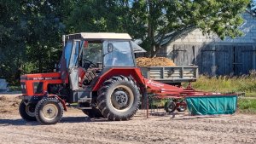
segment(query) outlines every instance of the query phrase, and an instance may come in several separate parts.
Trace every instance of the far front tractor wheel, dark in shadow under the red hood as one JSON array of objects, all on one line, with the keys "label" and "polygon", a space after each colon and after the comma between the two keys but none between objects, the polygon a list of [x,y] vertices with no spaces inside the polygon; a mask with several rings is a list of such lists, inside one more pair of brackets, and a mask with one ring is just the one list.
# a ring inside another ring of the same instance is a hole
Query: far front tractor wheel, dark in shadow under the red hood
[{"label": "far front tractor wheel, dark in shadow under the red hood", "polygon": [[21,118],[23,118],[26,121],[36,121],[35,116],[35,105],[28,104],[26,105],[24,101],[20,102],[19,112]]}]

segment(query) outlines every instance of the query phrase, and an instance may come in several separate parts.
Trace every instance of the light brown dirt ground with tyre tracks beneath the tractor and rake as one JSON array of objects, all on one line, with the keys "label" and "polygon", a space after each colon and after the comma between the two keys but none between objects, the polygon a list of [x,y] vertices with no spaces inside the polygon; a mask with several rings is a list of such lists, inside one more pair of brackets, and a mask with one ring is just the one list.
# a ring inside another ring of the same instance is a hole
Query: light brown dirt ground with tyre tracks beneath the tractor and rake
[{"label": "light brown dirt ground with tyre tracks beneath the tractor and rake", "polygon": [[61,122],[25,122],[18,113],[17,95],[0,95],[0,143],[256,143],[255,115],[189,116],[144,111],[130,121],[90,119],[69,108]]}]

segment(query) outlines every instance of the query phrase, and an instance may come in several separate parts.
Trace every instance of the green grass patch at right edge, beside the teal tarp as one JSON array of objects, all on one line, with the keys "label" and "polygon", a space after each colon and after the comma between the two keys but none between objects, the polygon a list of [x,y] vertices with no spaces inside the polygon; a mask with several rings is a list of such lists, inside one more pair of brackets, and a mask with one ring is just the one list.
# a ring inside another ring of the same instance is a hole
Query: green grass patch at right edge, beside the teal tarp
[{"label": "green grass patch at right edge, beside the teal tarp", "polygon": [[241,113],[256,114],[256,99],[239,98],[237,107]]}]

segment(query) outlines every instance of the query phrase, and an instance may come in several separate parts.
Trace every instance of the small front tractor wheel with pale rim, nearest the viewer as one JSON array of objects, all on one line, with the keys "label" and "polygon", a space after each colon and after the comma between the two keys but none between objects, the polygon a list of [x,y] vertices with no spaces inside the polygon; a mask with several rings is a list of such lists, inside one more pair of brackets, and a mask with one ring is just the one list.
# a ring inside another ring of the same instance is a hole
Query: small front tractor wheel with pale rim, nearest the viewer
[{"label": "small front tractor wheel with pale rim, nearest the viewer", "polygon": [[63,115],[63,106],[61,101],[55,97],[46,97],[38,101],[36,106],[36,118],[41,124],[56,124]]}]

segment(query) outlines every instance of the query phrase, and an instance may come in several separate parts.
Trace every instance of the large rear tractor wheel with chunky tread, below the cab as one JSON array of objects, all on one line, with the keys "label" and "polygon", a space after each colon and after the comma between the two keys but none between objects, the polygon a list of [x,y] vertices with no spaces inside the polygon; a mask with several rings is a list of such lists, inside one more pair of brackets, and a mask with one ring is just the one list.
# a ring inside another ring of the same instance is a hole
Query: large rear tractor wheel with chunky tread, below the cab
[{"label": "large rear tractor wheel with chunky tread, below the cab", "polygon": [[109,78],[98,90],[99,110],[108,120],[128,120],[139,106],[137,84],[129,77]]}]

